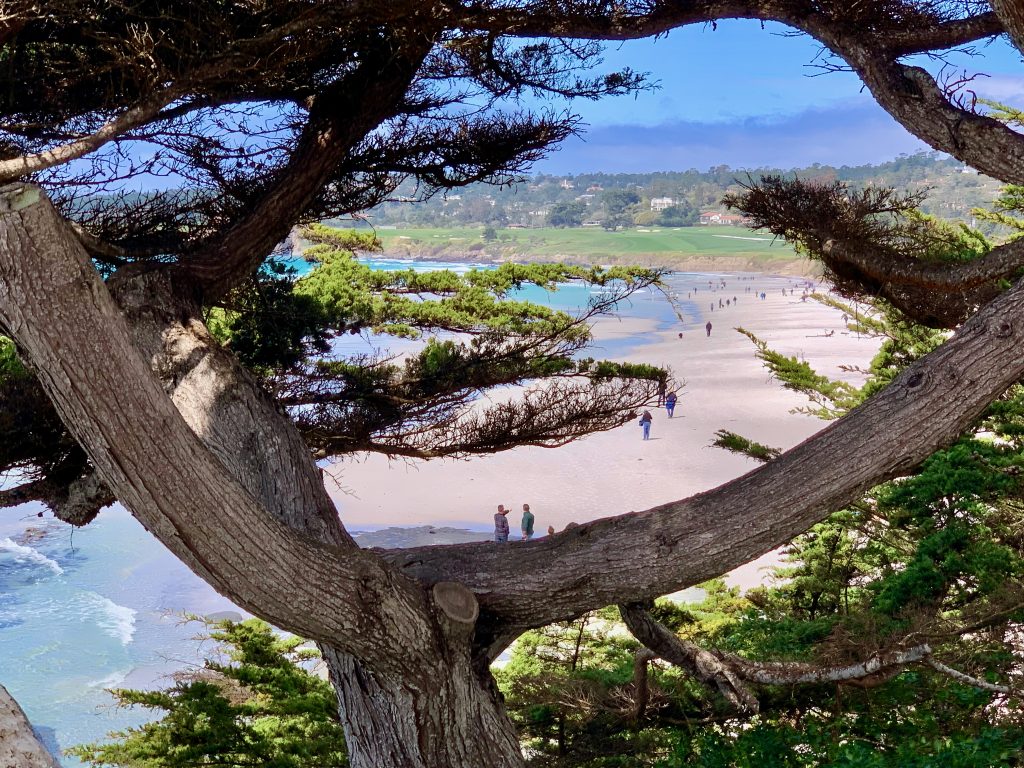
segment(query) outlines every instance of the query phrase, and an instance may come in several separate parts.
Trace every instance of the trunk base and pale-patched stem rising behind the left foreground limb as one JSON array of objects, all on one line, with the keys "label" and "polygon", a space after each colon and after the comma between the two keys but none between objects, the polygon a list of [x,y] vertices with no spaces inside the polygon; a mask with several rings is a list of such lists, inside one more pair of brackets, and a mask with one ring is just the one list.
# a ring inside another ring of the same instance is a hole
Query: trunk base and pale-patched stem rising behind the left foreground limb
[{"label": "trunk base and pale-patched stem rising behind the left foreground limb", "polygon": [[[324,544],[354,547],[298,431],[210,337],[198,307],[170,275],[117,281],[114,295],[178,413],[231,476],[292,529]],[[521,765],[489,673],[478,679],[469,669],[465,631],[453,640],[455,649],[446,643],[416,648],[416,639],[409,638],[403,650],[422,673],[429,671],[424,682],[375,675],[336,645],[319,644],[353,766]]]}]

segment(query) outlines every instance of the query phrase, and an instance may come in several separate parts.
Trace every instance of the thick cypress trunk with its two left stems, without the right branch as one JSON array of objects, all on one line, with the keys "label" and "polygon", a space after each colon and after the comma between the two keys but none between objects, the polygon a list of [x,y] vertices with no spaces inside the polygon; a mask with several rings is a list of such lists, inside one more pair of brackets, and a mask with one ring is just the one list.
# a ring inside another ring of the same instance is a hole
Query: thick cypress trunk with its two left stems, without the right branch
[{"label": "thick cypress trunk with its two left stems, without the right branch", "polygon": [[471,662],[472,593],[356,548],[292,425],[186,302],[143,275],[120,286],[119,310],[38,191],[6,193],[0,318],[136,517],[241,605],[322,643],[352,765],[520,766]]}]

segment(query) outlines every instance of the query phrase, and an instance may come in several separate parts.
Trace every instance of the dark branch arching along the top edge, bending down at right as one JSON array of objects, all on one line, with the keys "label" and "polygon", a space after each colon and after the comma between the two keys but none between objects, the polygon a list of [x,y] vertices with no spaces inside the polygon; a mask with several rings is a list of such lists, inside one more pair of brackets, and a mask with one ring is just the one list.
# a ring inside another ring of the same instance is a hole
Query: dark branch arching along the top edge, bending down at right
[{"label": "dark branch arching along the top edge, bending down at right", "polygon": [[[1006,0],[1007,6],[1015,4]],[[466,26],[479,31],[522,37],[558,35],[594,40],[632,40],[677,27],[721,18],[778,22],[806,32],[843,57],[879,103],[908,131],[936,150],[995,178],[1024,183],[1024,136],[998,121],[952,103],[925,70],[897,59],[911,53],[947,49],[1002,32],[996,14],[965,18],[932,18],[912,25],[893,20],[882,29],[865,28],[855,13],[828,8],[808,12],[806,5],[785,0],[766,2],[597,3],[577,13],[555,13],[527,4],[522,8],[466,11]],[[915,9],[907,7],[911,15]],[[927,14],[927,9],[922,11]],[[1011,18],[1004,16],[1002,20]],[[878,20],[878,17],[872,17]],[[924,19],[923,19],[924,20]]]}]

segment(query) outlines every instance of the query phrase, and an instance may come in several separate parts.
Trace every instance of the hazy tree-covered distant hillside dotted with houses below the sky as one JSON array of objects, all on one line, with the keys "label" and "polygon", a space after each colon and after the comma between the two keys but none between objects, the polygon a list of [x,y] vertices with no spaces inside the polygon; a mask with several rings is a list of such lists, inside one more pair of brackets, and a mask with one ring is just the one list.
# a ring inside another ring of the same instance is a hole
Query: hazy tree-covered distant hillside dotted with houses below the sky
[{"label": "hazy tree-covered distant hillside dotted with houses below the sky", "polygon": [[[814,165],[738,170],[716,166],[707,171],[540,175],[505,188],[473,184],[418,203],[409,202],[416,197],[416,190],[402,186],[395,193],[395,202],[373,209],[368,219],[378,228],[687,226],[697,224],[700,214],[724,213],[720,201],[726,193],[738,189],[739,183],[749,178],[769,173],[838,179],[855,187],[872,184],[927,190],[922,205],[926,213],[965,222],[972,220],[971,209],[986,207],[1000,186],[998,181],[966,169],[952,158],[921,153],[881,165],[838,168]],[[407,202],[399,202],[402,200]]]}]

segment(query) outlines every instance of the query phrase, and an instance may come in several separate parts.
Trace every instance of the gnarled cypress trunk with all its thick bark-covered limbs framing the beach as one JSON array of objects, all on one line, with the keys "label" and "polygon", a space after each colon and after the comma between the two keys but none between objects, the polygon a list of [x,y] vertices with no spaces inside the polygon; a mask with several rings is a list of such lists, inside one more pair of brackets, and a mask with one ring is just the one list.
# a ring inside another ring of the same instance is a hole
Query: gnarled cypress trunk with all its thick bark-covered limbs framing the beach
[{"label": "gnarled cypress trunk with all its thick bark-covered limbs framing the beach", "polygon": [[[567,16],[551,25],[536,6],[510,11],[518,22],[487,10],[478,27],[625,39],[726,16],[780,20],[843,55],[889,112],[937,148],[1004,180],[1024,179],[1018,134],[951,103],[927,73],[896,60],[943,40],[994,34],[1000,27],[992,14],[872,37],[835,33],[833,19],[784,0],[650,7],[634,22],[602,13],[592,28]],[[1018,40],[1016,6],[993,7]],[[406,61],[388,58],[390,69],[368,71],[379,98],[359,89],[357,97],[381,111],[366,112],[366,125],[388,114],[389,98],[400,98],[429,47],[422,40]],[[870,402],[721,488],[500,552],[487,545],[362,552],[338,521],[302,440],[213,343],[189,291],[189,278],[213,293],[232,285],[327,183],[367,131],[333,112],[302,144],[315,162],[295,156],[293,165],[313,172],[285,179],[229,228],[233,250],[215,239],[177,269],[125,272],[110,288],[37,190],[7,187],[0,193],[0,325],[100,478],[150,530],[240,605],[322,644],[355,766],[521,765],[487,672],[516,635],[672,592],[788,541],[954,439],[1024,376],[1018,284]],[[897,430],[901,440],[880,439]]]}]

